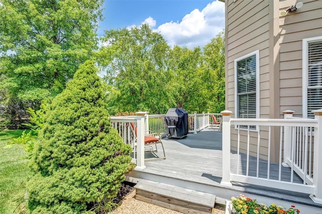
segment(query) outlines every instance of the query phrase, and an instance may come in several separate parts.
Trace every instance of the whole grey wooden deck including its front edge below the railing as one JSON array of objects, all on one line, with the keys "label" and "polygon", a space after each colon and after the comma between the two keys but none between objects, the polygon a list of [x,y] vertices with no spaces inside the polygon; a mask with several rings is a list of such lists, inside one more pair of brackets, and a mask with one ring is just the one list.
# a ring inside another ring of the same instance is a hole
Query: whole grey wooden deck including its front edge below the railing
[{"label": "whole grey wooden deck including its front edge below the railing", "polygon": [[[308,194],[237,182],[233,182],[232,187],[220,185],[222,176],[221,163],[226,158],[222,158],[221,132],[206,129],[197,134],[189,134],[188,137],[183,139],[165,138],[162,141],[165,147],[166,159],[145,162],[146,168],[143,170],[133,170],[127,177],[127,180],[137,182],[139,179],[148,179],[156,182],[164,182],[216,194],[223,199],[230,199],[231,196],[245,193],[250,197],[255,197],[255,195],[263,197],[269,196],[275,201],[276,199],[280,199],[299,202],[308,206],[316,206]],[[158,152],[161,153],[162,151]],[[150,155],[145,153],[146,158],[152,157]],[[231,172],[236,173],[237,154],[231,152],[230,159]],[[261,169],[267,169],[267,161],[260,160],[259,165]],[[256,176],[256,167],[256,158],[250,158],[249,175]],[[278,167],[276,163],[270,164],[270,179],[278,179]],[[239,174],[246,175],[245,155],[240,155],[239,157]],[[259,177],[267,178],[267,173],[261,172]],[[290,181],[290,168],[282,167],[282,180]],[[294,174],[294,182],[302,183],[303,181]],[[218,193],[218,190],[221,193]]]}]

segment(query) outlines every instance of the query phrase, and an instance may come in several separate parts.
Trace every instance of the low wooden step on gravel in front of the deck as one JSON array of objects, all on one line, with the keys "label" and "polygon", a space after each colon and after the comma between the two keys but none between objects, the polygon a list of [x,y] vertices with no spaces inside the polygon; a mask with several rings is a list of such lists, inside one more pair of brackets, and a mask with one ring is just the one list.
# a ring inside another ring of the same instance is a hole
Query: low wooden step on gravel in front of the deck
[{"label": "low wooden step on gravel in front of the deck", "polygon": [[141,179],[135,198],[183,213],[213,213],[216,195]]}]

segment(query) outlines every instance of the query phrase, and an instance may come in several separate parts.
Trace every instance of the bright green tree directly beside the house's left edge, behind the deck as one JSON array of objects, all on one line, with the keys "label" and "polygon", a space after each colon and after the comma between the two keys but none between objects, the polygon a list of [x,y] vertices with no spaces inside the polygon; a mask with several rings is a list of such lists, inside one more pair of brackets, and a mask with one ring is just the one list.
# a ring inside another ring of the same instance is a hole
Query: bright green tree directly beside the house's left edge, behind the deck
[{"label": "bright green tree directly beside the house's left edge, behind the deck", "polygon": [[188,112],[215,112],[225,108],[225,38],[219,33],[203,48],[190,50],[175,46],[169,69],[175,83],[173,91],[178,108]]}]

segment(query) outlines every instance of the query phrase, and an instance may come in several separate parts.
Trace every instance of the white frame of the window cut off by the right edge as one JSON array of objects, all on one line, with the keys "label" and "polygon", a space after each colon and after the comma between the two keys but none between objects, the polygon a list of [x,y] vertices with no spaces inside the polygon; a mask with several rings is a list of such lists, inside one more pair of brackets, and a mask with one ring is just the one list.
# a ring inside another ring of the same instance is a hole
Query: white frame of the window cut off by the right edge
[{"label": "white frame of the window cut off by the right edge", "polygon": [[322,40],[322,36],[302,40],[302,117],[307,118],[307,87],[308,87],[308,43]]}]

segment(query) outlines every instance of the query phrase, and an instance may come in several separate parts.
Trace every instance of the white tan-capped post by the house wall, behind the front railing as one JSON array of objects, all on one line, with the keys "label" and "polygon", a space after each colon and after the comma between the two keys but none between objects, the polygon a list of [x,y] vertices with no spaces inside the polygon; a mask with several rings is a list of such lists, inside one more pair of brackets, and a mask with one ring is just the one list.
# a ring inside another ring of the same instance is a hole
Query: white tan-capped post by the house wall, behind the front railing
[{"label": "white tan-capped post by the house wall, behind the front railing", "polygon": [[[284,113],[284,119],[288,119],[293,117],[294,111],[291,110],[285,110]],[[290,167],[287,164],[287,159],[291,160],[291,127],[284,126],[284,155],[283,155],[283,163],[282,165],[285,167]]]}]

